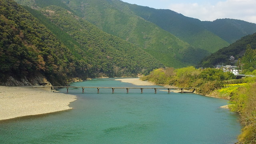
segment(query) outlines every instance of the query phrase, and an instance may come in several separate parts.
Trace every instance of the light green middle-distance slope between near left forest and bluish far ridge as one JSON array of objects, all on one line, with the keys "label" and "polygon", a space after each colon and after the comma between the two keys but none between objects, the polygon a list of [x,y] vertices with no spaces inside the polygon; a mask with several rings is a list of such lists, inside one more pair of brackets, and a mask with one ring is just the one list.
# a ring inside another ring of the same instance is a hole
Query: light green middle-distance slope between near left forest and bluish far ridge
[{"label": "light green middle-distance slope between near left forest and bluish far ridge", "polygon": [[[63,3],[60,4],[60,0],[35,0],[34,2],[34,5],[40,8],[50,5],[66,7],[62,6]],[[125,3],[120,0],[65,0],[63,2],[73,11],[70,11],[72,14],[92,22],[109,34],[132,42],[165,66],[195,65],[204,56],[210,54],[206,50],[190,46],[156,24],[136,16],[130,10],[120,10],[125,6]],[[24,1],[21,4],[24,4]]]}]

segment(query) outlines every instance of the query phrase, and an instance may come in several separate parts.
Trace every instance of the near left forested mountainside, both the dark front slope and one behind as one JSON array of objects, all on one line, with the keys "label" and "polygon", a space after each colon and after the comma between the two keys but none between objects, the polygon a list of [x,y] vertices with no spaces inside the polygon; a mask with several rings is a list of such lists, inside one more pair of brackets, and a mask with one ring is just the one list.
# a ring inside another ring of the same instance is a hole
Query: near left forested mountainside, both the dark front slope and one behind
[{"label": "near left forested mountainside, both the dark front slope and one behind", "polygon": [[63,85],[73,77],[136,76],[163,66],[138,46],[106,34],[64,8],[42,10],[59,27],[28,9],[40,21],[13,0],[0,0],[1,82],[9,76],[30,80],[40,75]]}]

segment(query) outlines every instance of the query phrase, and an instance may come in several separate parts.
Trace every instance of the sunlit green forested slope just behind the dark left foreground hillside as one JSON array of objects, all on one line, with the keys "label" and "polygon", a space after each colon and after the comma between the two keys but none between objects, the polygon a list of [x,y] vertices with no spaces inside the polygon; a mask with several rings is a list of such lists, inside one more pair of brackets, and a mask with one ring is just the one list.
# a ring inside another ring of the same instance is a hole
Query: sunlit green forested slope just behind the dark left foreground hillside
[{"label": "sunlit green forested slope just behind the dark left foreground hillside", "polygon": [[41,12],[86,48],[97,60],[100,71],[113,74],[108,76],[148,73],[163,66],[137,46],[103,32],[64,8],[48,6]]}]

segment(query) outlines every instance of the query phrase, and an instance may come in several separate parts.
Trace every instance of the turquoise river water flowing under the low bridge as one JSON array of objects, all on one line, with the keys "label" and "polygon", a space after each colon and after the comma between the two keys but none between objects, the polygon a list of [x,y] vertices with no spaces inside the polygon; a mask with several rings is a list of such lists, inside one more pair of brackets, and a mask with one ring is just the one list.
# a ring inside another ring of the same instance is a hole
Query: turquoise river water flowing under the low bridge
[{"label": "turquoise river water flowing under the low bridge", "polygon": [[[71,86],[142,87],[94,79]],[[160,86],[143,86],[160,87]],[[60,89],[66,92],[66,89]],[[0,122],[0,144],[234,144],[238,115],[227,100],[154,89],[69,89],[74,109]]]}]

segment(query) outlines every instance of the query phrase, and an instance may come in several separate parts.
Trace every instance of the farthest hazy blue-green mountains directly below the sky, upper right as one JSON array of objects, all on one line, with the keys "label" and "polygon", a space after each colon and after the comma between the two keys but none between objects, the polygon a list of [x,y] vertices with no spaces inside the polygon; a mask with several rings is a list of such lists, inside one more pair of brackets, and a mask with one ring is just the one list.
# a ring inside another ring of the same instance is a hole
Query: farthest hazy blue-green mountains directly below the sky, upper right
[{"label": "farthest hazy blue-green mountains directly below the sky, upper right", "polygon": [[136,4],[129,4],[129,7],[145,20],[157,24],[192,46],[205,48],[210,52],[227,46],[226,42],[231,44],[243,36],[256,32],[256,24],[243,20],[226,18],[213,22],[200,21],[172,10],[154,9]]}]

